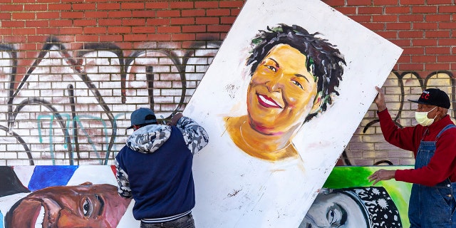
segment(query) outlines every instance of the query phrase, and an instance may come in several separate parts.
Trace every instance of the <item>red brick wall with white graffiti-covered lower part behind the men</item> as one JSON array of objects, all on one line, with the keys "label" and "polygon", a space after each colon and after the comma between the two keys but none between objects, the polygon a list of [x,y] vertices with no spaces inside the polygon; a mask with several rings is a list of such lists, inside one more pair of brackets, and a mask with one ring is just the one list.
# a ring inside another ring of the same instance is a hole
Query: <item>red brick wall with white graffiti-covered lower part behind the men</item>
[{"label": "red brick wall with white graffiti-covered lower part behind the men", "polygon": [[[324,2],[404,49],[383,86],[399,125],[414,124],[407,99],[423,88],[455,100],[454,1]],[[166,119],[185,108],[243,4],[0,3],[0,165],[110,165],[131,111]],[[340,164],[382,160],[409,165],[413,155],[383,140],[373,105]]]}]

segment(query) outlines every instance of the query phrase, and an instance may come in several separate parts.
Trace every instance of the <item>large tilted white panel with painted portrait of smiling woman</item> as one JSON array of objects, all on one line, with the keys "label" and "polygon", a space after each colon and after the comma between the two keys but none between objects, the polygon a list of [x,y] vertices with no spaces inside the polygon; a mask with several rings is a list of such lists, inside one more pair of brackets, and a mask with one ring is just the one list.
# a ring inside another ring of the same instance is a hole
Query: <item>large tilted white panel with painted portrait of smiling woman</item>
[{"label": "large tilted white panel with painted portrait of smiling woman", "polygon": [[318,0],[248,0],[185,108],[197,227],[299,227],[402,49]]}]

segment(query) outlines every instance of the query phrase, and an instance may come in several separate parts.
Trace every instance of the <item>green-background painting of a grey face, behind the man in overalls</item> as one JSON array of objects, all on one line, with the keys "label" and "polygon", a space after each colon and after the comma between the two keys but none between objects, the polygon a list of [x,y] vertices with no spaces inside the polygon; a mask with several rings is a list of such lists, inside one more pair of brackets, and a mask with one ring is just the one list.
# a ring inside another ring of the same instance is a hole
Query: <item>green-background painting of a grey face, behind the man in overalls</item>
[{"label": "green-background painting of a grey face, behind the man in overalls", "polygon": [[405,228],[412,184],[395,180],[375,186],[368,176],[376,170],[413,166],[334,167],[299,228]]}]

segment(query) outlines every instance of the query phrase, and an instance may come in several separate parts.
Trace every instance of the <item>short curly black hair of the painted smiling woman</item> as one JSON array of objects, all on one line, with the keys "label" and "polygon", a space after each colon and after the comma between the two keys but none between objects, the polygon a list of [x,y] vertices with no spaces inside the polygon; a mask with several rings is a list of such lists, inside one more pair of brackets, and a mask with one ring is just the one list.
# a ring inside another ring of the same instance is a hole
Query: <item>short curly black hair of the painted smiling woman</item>
[{"label": "short curly black hair of the painted smiling woman", "polygon": [[[313,72],[318,78],[317,94],[321,94],[321,110],[325,111],[327,104],[332,104],[331,94],[339,95],[336,88],[342,80],[343,65],[346,65],[343,55],[326,39],[318,38],[319,33],[309,33],[300,26],[279,26],[269,28],[266,31],[259,31],[259,34],[252,39],[251,55],[247,58],[247,66],[252,65],[250,76],[253,75],[257,66],[274,46],[283,43],[296,48],[306,56],[306,68]],[[306,121],[313,118],[313,113],[306,118]]]}]

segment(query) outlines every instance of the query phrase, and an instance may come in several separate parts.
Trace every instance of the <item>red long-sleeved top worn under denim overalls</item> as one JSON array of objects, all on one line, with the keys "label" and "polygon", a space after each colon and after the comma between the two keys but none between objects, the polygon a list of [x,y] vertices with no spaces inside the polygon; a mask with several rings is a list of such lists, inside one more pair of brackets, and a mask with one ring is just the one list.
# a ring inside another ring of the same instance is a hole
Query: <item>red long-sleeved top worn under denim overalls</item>
[{"label": "red long-sleeved top worn under denim overalls", "polygon": [[[416,157],[420,141],[435,141],[440,130],[451,124],[449,115],[438,120],[428,127],[416,125],[414,127],[398,128],[391,119],[388,110],[378,112],[380,128],[385,140],[403,150],[413,151]],[[429,129],[427,133],[425,130]],[[425,133],[423,138],[423,133]],[[420,185],[434,186],[450,177],[456,182],[456,128],[450,128],[440,135],[436,143],[436,150],[430,162],[419,169],[396,170],[395,180]]]}]

